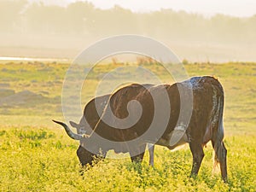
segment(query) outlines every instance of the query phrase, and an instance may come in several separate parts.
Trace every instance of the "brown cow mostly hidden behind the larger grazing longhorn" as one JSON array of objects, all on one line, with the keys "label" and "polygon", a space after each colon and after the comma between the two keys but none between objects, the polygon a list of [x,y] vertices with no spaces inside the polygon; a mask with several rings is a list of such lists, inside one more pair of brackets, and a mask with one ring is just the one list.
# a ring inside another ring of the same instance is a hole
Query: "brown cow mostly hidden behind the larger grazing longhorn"
[{"label": "brown cow mostly hidden behind the larger grazing longhorn", "polygon": [[[149,87],[153,84],[143,84],[145,87]],[[102,116],[103,110],[108,103],[108,99],[111,95],[97,96],[96,98],[90,100],[84,107],[84,115],[80,119],[79,124],[69,121],[70,125],[77,129],[77,133],[79,134],[90,134],[96,126],[96,123],[99,121]],[[80,141],[79,149],[77,150],[77,154],[82,166],[86,163],[84,159],[86,159],[84,154],[84,145],[83,141]],[[148,152],[149,152],[149,165],[154,166],[154,144],[148,143]]]}]

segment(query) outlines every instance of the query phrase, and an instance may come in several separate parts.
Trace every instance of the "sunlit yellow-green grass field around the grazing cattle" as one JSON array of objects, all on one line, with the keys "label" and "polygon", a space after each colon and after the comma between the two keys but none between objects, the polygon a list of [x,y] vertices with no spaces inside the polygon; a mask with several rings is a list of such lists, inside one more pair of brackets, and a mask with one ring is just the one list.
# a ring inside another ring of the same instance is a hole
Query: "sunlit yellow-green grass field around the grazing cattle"
[{"label": "sunlit yellow-green grass field around the grazing cattle", "polygon": [[[83,104],[93,96],[101,75],[117,66],[122,64],[99,65],[90,73]],[[148,166],[147,152],[142,166],[132,164],[126,155],[100,160],[80,176],[79,143],[51,122],[63,119],[61,88],[68,67],[46,62],[0,64],[1,191],[256,191],[256,63],[184,66],[189,76],[214,75],[224,85],[227,184],[220,173],[212,174],[210,143],[196,178],[188,177],[192,163],[188,146],[176,151],[157,146],[154,168]],[[172,81],[159,65],[143,67],[164,82]]]}]

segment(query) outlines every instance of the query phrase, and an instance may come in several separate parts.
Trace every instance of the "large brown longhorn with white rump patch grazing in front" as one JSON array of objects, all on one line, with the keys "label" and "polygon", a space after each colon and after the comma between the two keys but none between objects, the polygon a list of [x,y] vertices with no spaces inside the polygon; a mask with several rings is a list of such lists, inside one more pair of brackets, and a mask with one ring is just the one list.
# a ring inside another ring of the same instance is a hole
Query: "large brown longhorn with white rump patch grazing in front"
[{"label": "large brown longhorn with white rump patch grazing in front", "polygon": [[[160,107],[155,106],[155,103]],[[184,105],[191,105],[190,116],[183,109]],[[169,113],[166,108],[170,108]],[[172,85],[160,84],[146,88],[143,84],[131,84],[117,90],[110,96],[90,136],[75,134],[62,122],[55,123],[62,125],[69,137],[83,142],[83,152],[78,151],[78,154],[83,156],[84,164],[91,163],[95,154],[101,152],[105,155],[109,149],[129,152],[131,160],[142,160],[146,143],[170,149],[189,143],[193,156],[193,176],[199,172],[204,157],[203,146],[211,141],[215,152],[214,161],[219,163],[222,178],[227,181],[223,113],[222,85],[218,79],[203,76]],[[154,119],[155,115],[158,118]],[[137,119],[135,124],[134,119]],[[166,119],[165,124],[163,122]],[[114,144],[105,144],[99,137]]]}]

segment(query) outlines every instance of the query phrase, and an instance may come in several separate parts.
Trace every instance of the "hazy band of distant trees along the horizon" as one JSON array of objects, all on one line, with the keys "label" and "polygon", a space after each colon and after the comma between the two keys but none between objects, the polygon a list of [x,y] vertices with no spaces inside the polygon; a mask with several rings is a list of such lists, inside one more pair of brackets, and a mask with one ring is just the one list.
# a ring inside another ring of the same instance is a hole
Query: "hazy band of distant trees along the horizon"
[{"label": "hazy band of distant trees along the horizon", "polygon": [[68,35],[98,39],[135,33],[182,44],[256,44],[256,15],[236,18],[228,15],[189,14],[160,9],[134,13],[114,6],[96,9],[92,3],[75,2],[67,7],[0,0],[0,33]]}]

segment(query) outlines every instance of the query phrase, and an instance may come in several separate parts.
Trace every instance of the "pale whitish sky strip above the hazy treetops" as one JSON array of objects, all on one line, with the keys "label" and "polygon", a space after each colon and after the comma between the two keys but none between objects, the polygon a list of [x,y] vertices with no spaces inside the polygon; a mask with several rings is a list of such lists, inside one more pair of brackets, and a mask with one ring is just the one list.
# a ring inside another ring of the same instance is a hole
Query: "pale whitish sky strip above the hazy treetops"
[{"label": "pale whitish sky strip above the hazy treetops", "polygon": [[[31,0],[37,1],[37,0]],[[76,0],[38,0],[44,3],[67,5]],[[252,16],[256,15],[256,0],[88,0],[97,8],[109,9],[114,4],[133,11],[159,9],[185,10],[187,12],[214,15]]]}]

